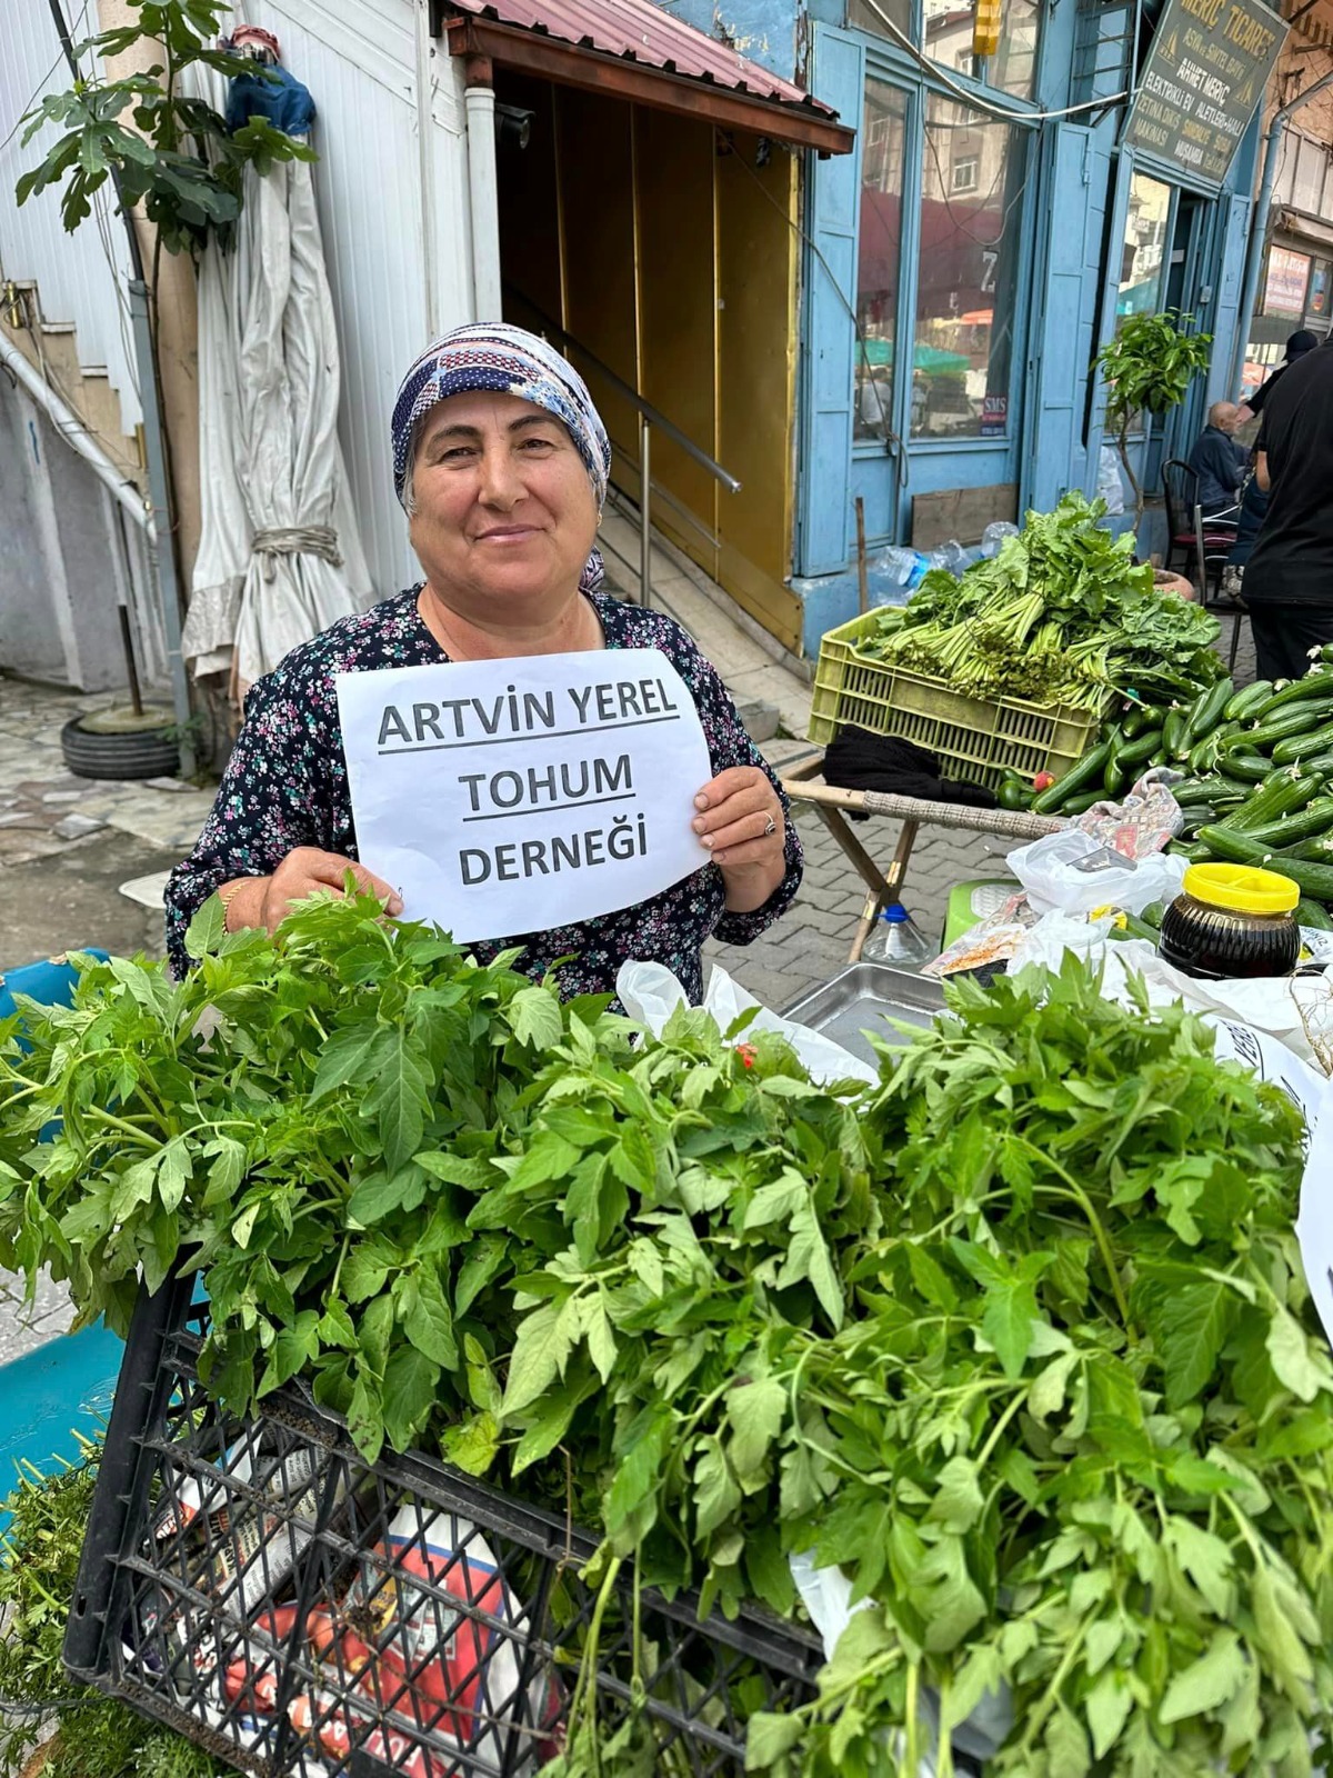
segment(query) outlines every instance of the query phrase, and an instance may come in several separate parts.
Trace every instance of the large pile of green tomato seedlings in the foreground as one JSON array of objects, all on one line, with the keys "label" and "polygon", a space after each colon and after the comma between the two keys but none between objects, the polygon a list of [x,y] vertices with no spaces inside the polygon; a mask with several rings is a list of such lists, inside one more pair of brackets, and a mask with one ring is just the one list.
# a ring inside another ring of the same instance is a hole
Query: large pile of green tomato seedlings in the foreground
[{"label": "large pile of green tomato seedlings in the foreground", "polygon": [[949,989],[830,1090],[700,1012],[633,1045],[373,901],[213,942],[28,1012],[0,1259],[117,1316],[137,1266],[201,1264],[229,1405],[302,1367],[368,1454],[439,1442],[599,1527],[560,1778],[652,1769],[643,1719],[597,1728],[619,1565],[791,1613],[802,1550],[871,1604],[750,1771],[915,1774],[926,1693],[958,1723],[997,1687],[1001,1778],[1310,1771],[1333,1364],[1301,1127],[1198,1019],[1070,962]]}]

